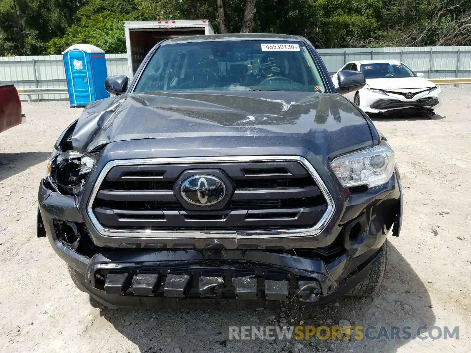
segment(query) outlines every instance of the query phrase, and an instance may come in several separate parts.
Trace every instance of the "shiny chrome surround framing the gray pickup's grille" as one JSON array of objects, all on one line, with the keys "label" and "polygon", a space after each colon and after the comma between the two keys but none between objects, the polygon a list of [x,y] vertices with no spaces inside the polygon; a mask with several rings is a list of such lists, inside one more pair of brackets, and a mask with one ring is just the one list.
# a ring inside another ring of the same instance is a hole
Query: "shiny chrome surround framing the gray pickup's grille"
[{"label": "shiny chrome surround framing the gray pickup's grille", "polygon": [[[313,177],[317,186],[321,190],[327,202],[327,209],[319,222],[311,228],[304,229],[284,229],[273,231],[205,231],[205,232],[188,232],[188,231],[153,231],[153,230],[124,230],[105,228],[98,222],[97,217],[93,214],[92,205],[95,200],[99,187],[105,179],[111,168],[124,165],[155,165],[155,164],[185,164],[185,163],[223,163],[223,162],[280,162],[280,161],[296,161],[300,162]],[[100,172],[92,193],[87,204],[87,213],[91,223],[98,233],[104,237],[114,238],[205,238],[205,239],[257,239],[257,238],[287,238],[287,237],[303,237],[316,235],[324,230],[327,223],[333,216],[335,203],[332,195],[322,181],[316,169],[309,161],[301,156],[225,156],[225,157],[178,157],[178,158],[147,158],[138,160],[112,160],[106,163]]]}]

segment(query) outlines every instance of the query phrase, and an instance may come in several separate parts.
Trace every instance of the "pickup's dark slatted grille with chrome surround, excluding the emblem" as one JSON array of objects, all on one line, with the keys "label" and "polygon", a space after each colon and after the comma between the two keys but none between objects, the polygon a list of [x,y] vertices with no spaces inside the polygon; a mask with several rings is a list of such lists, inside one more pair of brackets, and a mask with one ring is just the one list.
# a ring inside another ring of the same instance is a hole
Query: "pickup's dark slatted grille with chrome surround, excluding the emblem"
[{"label": "pickup's dark slatted grille with chrome surround, excluding the emblem", "polygon": [[[179,159],[113,161],[98,177],[89,216],[100,233],[114,236],[252,231],[268,236],[283,230],[317,233],[317,227],[324,226],[333,211],[325,185],[310,164],[308,171],[300,162],[304,160],[301,157],[271,158],[233,161],[234,157],[229,157],[229,161],[218,163],[199,162],[207,160],[204,157],[192,159],[193,163],[174,162]],[[170,163],[165,163],[167,160]],[[234,192],[223,209],[186,209],[178,201],[175,182],[179,175],[198,169],[217,169],[233,182]]]}]

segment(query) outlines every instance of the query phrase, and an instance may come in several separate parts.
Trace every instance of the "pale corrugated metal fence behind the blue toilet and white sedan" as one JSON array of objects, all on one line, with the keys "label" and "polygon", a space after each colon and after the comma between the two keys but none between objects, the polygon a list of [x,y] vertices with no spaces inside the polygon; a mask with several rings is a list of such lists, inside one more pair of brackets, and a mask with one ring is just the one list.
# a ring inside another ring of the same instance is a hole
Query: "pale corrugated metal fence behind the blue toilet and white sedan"
[{"label": "pale corrugated metal fence behind the blue toilet and white sedan", "polygon": [[[471,46],[412,48],[317,49],[331,74],[353,60],[399,60],[426,78],[471,77]],[[108,75],[127,75],[126,54],[106,54]],[[66,87],[61,55],[0,56],[0,82],[17,88]],[[463,87],[471,85],[462,85]],[[67,95],[39,95],[40,99],[67,99]],[[21,96],[26,99],[25,96]],[[32,99],[37,97],[32,96]]]}]

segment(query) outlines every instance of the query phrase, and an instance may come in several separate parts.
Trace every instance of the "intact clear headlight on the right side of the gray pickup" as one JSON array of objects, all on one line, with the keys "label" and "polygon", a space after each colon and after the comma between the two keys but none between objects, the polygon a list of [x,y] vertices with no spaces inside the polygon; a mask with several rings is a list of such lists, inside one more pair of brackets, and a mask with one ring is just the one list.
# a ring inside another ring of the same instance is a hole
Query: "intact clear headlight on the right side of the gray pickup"
[{"label": "intact clear headlight on the right side of the gray pickup", "polygon": [[394,166],[394,151],[385,141],[373,148],[337,157],[331,163],[333,172],[345,187],[382,185],[392,176]]}]

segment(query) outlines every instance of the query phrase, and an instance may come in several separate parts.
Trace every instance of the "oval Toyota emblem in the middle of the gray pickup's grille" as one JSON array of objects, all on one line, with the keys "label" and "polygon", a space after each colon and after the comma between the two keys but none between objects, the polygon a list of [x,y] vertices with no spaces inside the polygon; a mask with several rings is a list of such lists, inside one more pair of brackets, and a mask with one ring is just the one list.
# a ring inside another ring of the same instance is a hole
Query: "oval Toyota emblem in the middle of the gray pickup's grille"
[{"label": "oval Toyota emblem in the middle of the gray pickup's grille", "polygon": [[195,175],[185,179],[180,186],[180,195],[191,205],[212,206],[222,201],[227,194],[224,182],[212,175]]}]

